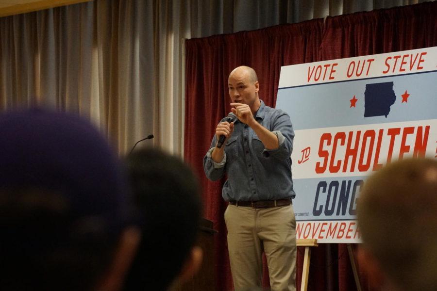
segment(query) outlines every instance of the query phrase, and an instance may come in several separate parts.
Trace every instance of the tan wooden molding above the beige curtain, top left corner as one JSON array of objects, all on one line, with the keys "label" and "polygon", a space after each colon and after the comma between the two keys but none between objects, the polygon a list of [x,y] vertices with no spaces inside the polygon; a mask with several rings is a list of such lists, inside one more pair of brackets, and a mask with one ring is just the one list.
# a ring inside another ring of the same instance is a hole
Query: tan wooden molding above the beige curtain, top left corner
[{"label": "tan wooden molding above the beige curtain, top left corner", "polygon": [[11,6],[0,8],[0,17],[11,16],[16,14],[34,12],[37,10],[44,10],[53,7],[77,4],[81,2],[88,2],[93,0],[38,0],[26,3],[23,0],[21,4],[12,4]]}]

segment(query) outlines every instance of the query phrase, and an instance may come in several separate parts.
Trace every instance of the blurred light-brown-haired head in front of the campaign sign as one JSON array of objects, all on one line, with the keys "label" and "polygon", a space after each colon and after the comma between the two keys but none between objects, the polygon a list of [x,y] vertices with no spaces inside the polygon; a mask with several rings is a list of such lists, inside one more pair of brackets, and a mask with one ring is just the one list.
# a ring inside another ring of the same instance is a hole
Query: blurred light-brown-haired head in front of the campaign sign
[{"label": "blurred light-brown-haired head in front of the campaign sign", "polygon": [[437,161],[406,159],[368,178],[357,206],[360,263],[389,290],[437,290]]}]

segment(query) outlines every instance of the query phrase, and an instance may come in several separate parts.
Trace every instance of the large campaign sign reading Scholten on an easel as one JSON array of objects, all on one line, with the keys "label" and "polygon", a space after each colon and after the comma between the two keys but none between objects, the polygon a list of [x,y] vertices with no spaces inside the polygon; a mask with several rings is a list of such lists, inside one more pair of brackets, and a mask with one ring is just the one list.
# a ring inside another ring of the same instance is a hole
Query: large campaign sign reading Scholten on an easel
[{"label": "large campaign sign reading Scholten on an easel", "polygon": [[276,108],[296,134],[297,238],[360,242],[366,177],[397,159],[437,158],[437,47],[284,66]]}]

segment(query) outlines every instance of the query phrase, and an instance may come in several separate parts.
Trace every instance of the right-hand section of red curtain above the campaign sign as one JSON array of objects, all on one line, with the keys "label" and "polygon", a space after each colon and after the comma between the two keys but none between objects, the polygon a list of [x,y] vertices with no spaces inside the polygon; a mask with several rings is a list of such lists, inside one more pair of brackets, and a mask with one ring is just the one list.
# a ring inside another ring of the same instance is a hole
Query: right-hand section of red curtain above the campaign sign
[{"label": "right-hand section of red curtain above the campaign sign", "polygon": [[322,60],[392,51],[420,49],[437,44],[437,3],[328,16],[320,46]]}]

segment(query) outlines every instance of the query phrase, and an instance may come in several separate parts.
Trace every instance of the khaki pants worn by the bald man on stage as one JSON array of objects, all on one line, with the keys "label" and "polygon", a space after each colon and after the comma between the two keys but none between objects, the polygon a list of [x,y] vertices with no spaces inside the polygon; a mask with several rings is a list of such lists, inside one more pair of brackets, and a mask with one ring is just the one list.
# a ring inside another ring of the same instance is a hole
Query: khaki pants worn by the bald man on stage
[{"label": "khaki pants worn by the bald man on stage", "polygon": [[291,205],[255,209],[229,205],[225,211],[235,291],[261,287],[266,253],[272,291],[296,291],[296,219]]}]

